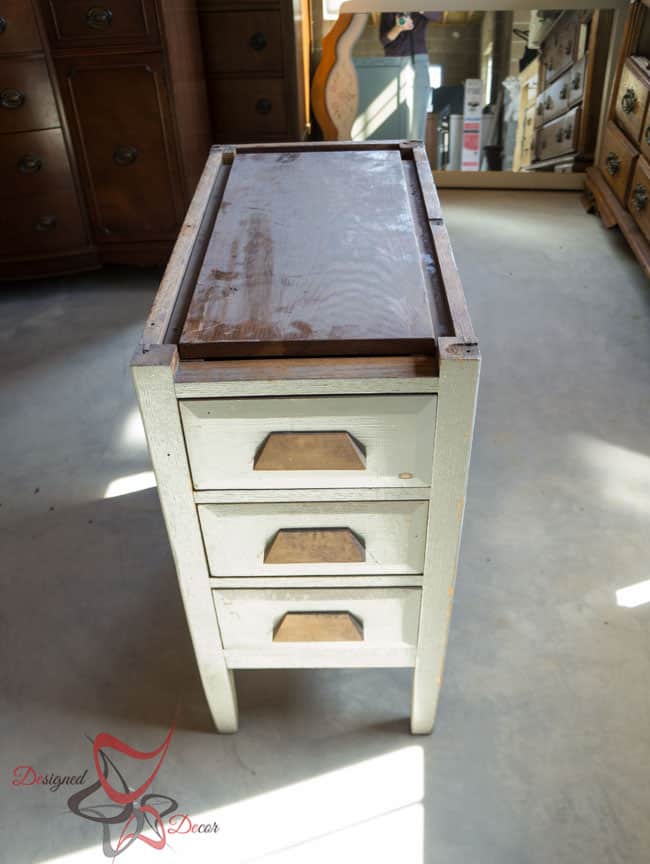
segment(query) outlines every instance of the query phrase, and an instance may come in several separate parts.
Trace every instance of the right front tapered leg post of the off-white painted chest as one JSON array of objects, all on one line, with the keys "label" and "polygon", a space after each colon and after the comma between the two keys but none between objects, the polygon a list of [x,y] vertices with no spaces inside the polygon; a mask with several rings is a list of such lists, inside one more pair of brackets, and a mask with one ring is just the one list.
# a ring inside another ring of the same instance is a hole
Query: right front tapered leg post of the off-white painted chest
[{"label": "right front tapered leg post of the off-white painted chest", "polygon": [[427,552],[413,675],[411,732],[433,730],[442,684],[465,510],[480,356],[475,345],[440,340],[440,390]]}]

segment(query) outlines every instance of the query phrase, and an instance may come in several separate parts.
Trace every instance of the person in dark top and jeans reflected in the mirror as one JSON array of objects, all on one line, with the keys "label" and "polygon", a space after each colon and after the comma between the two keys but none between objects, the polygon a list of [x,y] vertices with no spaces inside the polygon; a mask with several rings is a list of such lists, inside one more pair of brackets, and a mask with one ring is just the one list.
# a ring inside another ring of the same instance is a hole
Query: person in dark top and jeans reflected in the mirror
[{"label": "person in dark top and jeans reflected in the mirror", "polygon": [[429,54],[426,31],[429,21],[441,21],[442,12],[384,12],[379,22],[379,39],[386,57],[410,61],[413,70],[413,101],[408,137],[424,139],[429,106]]}]

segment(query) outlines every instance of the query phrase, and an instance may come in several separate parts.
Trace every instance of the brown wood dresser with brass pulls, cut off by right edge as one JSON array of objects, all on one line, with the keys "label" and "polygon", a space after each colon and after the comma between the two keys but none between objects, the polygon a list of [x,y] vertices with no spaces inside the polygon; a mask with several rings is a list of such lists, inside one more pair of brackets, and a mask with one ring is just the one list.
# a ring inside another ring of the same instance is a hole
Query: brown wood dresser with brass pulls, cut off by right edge
[{"label": "brown wood dresser with brass pulls, cut off by right edge", "polygon": [[650,276],[650,14],[631,7],[597,164],[587,171],[585,204],[623,232]]}]

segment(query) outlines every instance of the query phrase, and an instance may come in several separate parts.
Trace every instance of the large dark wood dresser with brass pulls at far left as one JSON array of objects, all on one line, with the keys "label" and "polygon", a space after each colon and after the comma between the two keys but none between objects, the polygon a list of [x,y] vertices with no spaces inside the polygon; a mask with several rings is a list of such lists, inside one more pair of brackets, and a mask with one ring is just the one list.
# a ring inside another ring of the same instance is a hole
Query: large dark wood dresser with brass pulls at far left
[{"label": "large dark wood dresser with brass pulls at far left", "polygon": [[194,0],[9,0],[0,277],[166,260],[209,148]]}]

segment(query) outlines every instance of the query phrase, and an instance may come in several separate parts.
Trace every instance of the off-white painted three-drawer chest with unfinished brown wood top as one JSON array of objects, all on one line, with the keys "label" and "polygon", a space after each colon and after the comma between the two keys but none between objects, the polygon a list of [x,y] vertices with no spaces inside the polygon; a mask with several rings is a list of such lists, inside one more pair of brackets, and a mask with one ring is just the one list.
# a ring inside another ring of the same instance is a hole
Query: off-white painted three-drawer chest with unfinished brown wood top
[{"label": "off-white painted three-drawer chest with unfinished brown wood top", "polygon": [[132,372],[199,671],[442,681],[479,373],[418,143],[212,149]]}]

